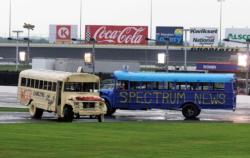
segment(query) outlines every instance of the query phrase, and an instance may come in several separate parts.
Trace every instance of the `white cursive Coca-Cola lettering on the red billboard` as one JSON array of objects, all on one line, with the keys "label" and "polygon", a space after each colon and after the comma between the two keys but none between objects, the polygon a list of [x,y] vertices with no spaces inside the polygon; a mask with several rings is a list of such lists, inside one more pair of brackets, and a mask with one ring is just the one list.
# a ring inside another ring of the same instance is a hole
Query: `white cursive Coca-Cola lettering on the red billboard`
[{"label": "white cursive Coca-Cola lettering on the red billboard", "polygon": [[93,33],[93,38],[98,43],[142,44],[147,36],[146,29],[146,27],[134,26],[117,27],[116,29],[101,26]]}]

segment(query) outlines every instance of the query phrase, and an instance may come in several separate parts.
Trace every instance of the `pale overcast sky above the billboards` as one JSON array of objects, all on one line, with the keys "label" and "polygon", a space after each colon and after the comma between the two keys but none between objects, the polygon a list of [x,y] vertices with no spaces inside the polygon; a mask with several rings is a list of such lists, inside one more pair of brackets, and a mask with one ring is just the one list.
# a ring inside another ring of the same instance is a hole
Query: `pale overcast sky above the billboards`
[{"label": "pale overcast sky above the billboards", "polygon": [[[8,36],[9,1],[0,1],[0,36]],[[150,0],[82,0],[85,24],[150,25]],[[155,26],[218,27],[217,0],[153,0]],[[250,0],[223,2],[223,28],[250,27]],[[31,35],[48,36],[49,24],[79,26],[80,0],[12,0],[12,30],[34,24]]]}]

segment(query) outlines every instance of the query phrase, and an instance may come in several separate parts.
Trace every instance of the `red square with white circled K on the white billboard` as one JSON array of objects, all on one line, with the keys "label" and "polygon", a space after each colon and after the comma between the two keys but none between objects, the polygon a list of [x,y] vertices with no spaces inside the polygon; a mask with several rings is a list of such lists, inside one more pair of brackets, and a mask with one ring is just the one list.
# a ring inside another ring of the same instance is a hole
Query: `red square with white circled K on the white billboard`
[{"label": "red square with white circled K on the white billboard", "polygon": [[71,40],[71,26],[70,25],[57,25],[56,26],[56,39],[57,40]]}]

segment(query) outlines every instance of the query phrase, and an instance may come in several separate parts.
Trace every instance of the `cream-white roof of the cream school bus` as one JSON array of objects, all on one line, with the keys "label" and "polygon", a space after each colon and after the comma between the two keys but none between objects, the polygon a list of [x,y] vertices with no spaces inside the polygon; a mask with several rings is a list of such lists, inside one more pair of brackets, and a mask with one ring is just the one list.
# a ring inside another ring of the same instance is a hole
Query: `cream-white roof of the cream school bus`
[{"label": "cream-white roof of the cream school bus", "polygon": [[[54,71],[54,70],[24,70],[20,73],[21,77],[30,77],[39,80],[52,80],[52,81],[65,81],[71,76],[81,76],[85,77],[87,81],[99,81],[99,77],[88,73],[72,73],[64,71]],[[84,81],[83,81],[84,82]]]}]

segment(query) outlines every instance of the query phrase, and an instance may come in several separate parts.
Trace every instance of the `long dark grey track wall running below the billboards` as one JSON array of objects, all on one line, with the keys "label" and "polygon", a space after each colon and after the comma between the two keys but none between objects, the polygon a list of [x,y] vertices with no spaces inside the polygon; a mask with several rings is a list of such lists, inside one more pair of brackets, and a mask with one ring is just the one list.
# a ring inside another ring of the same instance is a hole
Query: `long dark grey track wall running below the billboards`
[{"label": "long dark grey track wall running below the billboards", "polygon": [[[20,51],[25,51],[25,46]],[[73,47],[31,47],[32,58],[74,58],[82,59],[84,52],[91,52],[91,48]],[[143,65],[154,65],[157,62],[157,53],[165,52],[165,49],[124,49],[124,48],[96,48],[96,60],[125,60],[138,61]],[[0,57],[15,58],[15,47],[0,46]],[[215,51],[188,51],[187,63],[190,65],[199,61],[228,61],[231,55],[237,52],[215,52]],[[184,51],[180,49],[169,50],[171,65],[183,65]]]}]

